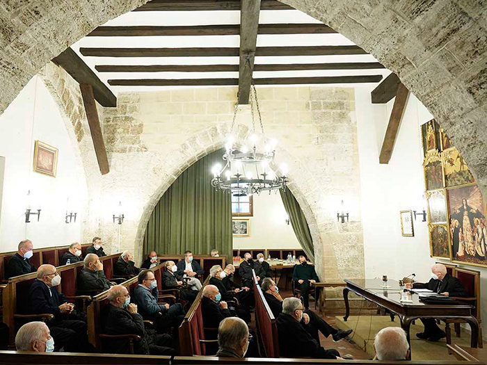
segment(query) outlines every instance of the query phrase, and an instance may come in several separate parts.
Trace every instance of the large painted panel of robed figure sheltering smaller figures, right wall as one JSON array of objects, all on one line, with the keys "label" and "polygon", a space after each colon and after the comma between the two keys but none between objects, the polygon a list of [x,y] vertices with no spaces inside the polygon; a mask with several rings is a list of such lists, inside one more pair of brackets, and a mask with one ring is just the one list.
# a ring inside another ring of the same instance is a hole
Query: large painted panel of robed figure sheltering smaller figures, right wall
[{"label": "large painted panel of robed figure sheltering smaller figures, right wall", "polygon": [[447,189],[452,260],[487,267],[484,197],[476,184]]}]

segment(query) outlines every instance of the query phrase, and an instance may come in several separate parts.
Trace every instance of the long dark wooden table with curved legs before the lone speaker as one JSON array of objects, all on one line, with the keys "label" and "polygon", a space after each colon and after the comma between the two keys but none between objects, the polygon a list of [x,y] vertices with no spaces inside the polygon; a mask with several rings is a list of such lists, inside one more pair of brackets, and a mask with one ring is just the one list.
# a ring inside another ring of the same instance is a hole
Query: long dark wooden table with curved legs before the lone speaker
[{"label": "long dark wooden table with curved legs before the lone speaker", "polygon": [[410,347],[409,328],[411,322],[416,318],[461,318],[470,325],[472,336],[470,343],[472,348],[477,348],[479,340],[479,322],[474,317],[474,307],[466,303],[458,302],[452,305],[426,305],[420,302],[416,294],[410,296],[412,302],[401,302],[403,287],[395,280],[388,281],[388,288],[383,288],[381,279],[345,279],[346,286],[343,289],[346,314],[344,321],[350,316],[349,291],[374,302],[376,305],[388,309],[397,314],[401,319],[401,327],[406,332]]}]

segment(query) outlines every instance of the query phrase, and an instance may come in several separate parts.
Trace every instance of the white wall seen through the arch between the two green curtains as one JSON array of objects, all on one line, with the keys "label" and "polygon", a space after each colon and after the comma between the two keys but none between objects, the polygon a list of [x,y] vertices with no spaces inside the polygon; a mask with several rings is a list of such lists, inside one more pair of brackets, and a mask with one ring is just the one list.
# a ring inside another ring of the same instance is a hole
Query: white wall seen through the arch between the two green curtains
[{"label": "white wall seen through the arch between the two green curtains", "polygon": [[250,220],[250,236],[234,237],[233,248],[301,248],[292,226],[287,225],[286,209],[279,194],[254,195],[254,216]]}]

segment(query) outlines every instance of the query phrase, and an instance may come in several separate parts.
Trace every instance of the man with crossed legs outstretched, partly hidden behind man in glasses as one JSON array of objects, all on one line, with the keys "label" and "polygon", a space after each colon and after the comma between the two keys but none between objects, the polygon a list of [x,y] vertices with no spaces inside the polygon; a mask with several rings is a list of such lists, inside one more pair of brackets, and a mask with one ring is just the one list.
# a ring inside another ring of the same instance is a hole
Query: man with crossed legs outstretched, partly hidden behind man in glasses
[{"label": "man with crossed legs outstretched, partly hidden behind man in glasses", "polygon": [[[278,286],[270,277],[266,277],[264,280],[262,280],[261,287],[264,298],[266,298],[266,302],[269,305],[269,308],[271,308],[274,318],[278,318],[278,316],[282,313],[282,297],[279,294]],[[301,325],[305,327],[305,330],[307,330],[313,339],[317,340],[318,343],[320,343],[318,332],[321,332],[325,337],[328,337],[331,334],[333,341],[335,342],[349,336],[349,334],[353,332],[353,330],[343,331],[331,327],[323,318],[315,314],[314,311],[310,309],[306,310],[303,314]]]}]

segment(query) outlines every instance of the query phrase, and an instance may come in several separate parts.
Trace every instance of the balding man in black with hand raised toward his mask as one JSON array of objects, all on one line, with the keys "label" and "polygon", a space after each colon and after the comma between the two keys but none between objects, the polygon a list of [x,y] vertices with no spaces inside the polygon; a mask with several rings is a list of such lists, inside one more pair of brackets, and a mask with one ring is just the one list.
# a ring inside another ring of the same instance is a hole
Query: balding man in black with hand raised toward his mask
[{"label": "balding man in black with hand raised toward his mask", "polygon": [[[130,302],[127,288],[114,285],[108,293],[109,305],[102,313],[105,334],[138,334],[141,341],[135,343],[134,352],[141,355],[175,355],[173,339],[168,334],[155,334],[145,330],[143,318],[137,313],[137,306]],[[127,353],[129,339],[111,339],[106,343],[105,352]]]}]

